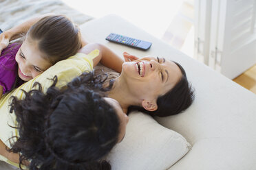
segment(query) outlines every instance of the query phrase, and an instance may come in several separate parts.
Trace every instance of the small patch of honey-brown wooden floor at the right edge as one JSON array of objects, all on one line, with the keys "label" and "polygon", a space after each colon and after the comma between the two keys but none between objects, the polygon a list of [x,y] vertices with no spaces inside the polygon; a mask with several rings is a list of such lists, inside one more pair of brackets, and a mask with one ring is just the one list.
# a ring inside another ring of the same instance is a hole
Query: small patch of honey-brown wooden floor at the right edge
[{"label": "small patch of honey-brown wooden floor at the right edge", "polygon": [[236,77],[233,81],[256,94],[256,65]]}]

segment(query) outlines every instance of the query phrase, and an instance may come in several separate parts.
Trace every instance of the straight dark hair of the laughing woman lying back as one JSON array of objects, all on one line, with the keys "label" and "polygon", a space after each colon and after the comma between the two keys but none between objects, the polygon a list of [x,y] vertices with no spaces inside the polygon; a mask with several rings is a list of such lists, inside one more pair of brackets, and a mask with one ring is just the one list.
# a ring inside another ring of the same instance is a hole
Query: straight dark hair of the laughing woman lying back
[{"label": "straight dark hair of the laughing woman lying back", "polygon": [[173,88],[171,88],[171,90],[158,97],[158,109],[155,111],[149,111],[140,106],[130,106],[128,108],[128,112],[138,110],[140,112],[150,114],[151,116],[167,117],[178,114],[191,106],[194,99],[193,89],[186,78],[186,72],[184,71],[183,67],[177,62],[174,63],[180,68],[182,77],[180,78],[180,81],[175,84]]}]

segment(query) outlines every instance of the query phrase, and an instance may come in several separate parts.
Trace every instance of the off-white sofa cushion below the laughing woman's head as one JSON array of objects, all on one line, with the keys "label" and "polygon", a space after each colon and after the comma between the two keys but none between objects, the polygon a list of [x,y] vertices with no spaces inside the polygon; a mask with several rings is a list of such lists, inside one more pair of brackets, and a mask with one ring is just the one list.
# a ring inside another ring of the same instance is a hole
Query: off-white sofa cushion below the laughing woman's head
[{"label": "off-white sofa cushion below the laughing woman's head", "polygon": [[129,114],[125,138],[111,150],[107,160],[117,169],[168,169],[191,145],[186,139],[142,112]]}]

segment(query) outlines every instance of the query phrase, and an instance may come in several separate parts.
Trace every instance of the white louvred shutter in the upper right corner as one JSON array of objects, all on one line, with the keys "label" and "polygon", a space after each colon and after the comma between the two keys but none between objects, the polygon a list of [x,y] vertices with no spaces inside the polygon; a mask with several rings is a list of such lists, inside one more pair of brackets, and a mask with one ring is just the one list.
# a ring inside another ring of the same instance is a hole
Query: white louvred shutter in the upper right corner
[{"label": "white louvred shutter in the upper right corner", "polygon": [[209,66],[231,79],[256,63],[256,0],[214,0]]}]

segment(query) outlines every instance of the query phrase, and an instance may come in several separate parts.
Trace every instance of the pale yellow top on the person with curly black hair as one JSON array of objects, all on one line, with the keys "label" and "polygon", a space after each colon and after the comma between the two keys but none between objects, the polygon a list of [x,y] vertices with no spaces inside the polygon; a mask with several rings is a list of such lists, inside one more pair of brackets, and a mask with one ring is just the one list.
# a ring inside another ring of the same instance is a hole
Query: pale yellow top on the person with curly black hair
[{"label": "pale yellow top on the person with curly black hair", "polygon": [[[23,90],[29,91],[32,90],[32,86],[35,82],[39,82],[42,86],[42,90],[45,93],[47,88],[52,85],[52,79],[55,75],[58,77],[58,82],[56,86],[61,88],[65,86],[68,82],[81,75],[83,72],[89,72],[93,69],[93,59],[98,56],[98,49],[92,51],[88,55],[84,53],[76,53],[75,56],[67,58],[67,60],[62,60],[51,66],[41,75],[34,77],[34,79],[30,80],[12,90],[10,93],[3,95],[0,100],[0,139],[3,143],[6,144],[10,148],[10,141],[8,140],[12,136],[18,136],[17,129],[12,128],[10,126],[17,127],[16,125],[16,117],[14,113],[10,113],[10,97],[15,96],[18,99],[22,99],[25,97]],[[14,142],[16,138],[12,138],[11,142]],[[10,162],[7,158],[0,155],[0,160],[8,162],[11,165],[19,167],[19,165]]]}]

